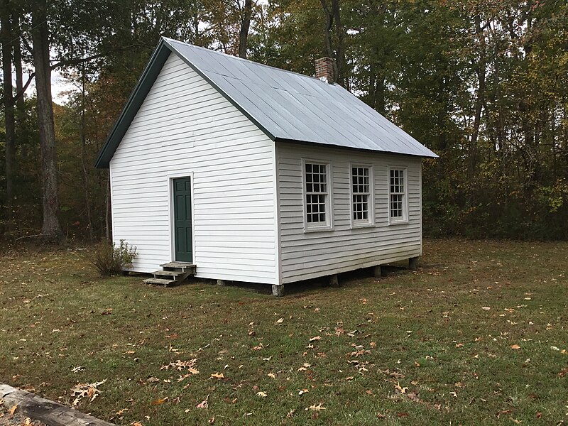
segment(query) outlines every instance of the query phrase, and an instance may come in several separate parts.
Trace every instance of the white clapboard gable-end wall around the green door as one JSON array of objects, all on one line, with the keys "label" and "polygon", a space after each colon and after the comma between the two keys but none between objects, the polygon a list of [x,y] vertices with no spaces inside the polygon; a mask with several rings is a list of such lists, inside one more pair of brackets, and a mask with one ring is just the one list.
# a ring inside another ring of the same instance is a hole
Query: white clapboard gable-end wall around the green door
[{"label": "white clapboard gable-end wall around the green door", "polygon": [[274,143],[174,53],[110,168],[114,240],[136,246],[134,271],[173,260],[170,179],[192,175],[197,276],[278,281]]}]

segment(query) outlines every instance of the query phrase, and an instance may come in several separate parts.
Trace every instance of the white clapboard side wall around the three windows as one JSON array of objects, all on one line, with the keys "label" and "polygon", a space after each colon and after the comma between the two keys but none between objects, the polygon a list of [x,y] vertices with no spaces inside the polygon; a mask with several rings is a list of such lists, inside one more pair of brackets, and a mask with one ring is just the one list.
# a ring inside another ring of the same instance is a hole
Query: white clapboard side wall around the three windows
[{"label": "white clapboard side wall around the three windows", "polygon": [[[332,273],[420,256],[421,160],[404,155],[278,143],[280,282],[291,283]],[[331,163],[333,229],[304,231],[302,158]],[[373,167],[373,226],[351,229],[350,163]],[[407,168],[408,223],[388,224],[388,166]]]}]

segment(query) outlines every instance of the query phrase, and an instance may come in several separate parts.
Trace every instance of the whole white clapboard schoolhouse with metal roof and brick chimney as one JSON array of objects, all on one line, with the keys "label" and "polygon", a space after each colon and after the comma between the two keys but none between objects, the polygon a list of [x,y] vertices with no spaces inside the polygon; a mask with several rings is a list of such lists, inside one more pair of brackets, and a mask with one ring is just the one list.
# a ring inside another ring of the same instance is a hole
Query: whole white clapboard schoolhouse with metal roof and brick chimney
[{"label": "whole white clapboard schoolhouse with metal roof and brick chimney", "polygon": [[114,240],[138,251],[131,271],[282,295],[299,280],[414,263],[421,161],[436,155],[326,82],[331,69],[323,58],[309,77],[160,40],[97,158]]}]

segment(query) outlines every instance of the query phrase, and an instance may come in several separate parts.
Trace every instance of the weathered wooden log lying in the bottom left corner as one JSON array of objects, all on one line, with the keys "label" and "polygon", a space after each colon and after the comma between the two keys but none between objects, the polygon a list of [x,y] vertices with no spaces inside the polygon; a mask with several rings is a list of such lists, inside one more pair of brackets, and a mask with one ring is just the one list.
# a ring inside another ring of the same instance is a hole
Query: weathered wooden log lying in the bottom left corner
[{"label": "weathered wooden log lying in the bottom left corner", "polygon": [[113,423],[80,413],[55,401],[40,398],[38,395],[4,383],[0,383],[0,400],[4,400],[4,405],[8,408],[17,405],[16,413],[50,426],[114,426]]}]

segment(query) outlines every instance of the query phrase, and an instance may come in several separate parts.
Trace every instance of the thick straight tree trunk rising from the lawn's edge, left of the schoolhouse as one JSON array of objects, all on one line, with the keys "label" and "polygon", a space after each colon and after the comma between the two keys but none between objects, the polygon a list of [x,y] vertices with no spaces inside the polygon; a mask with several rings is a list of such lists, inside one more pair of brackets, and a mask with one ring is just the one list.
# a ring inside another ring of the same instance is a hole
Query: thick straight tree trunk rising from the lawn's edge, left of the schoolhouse
[{"label": "thick straight tree trunk rising from the lawn's edge, left of the schoolhouse", "polygon": [[55,167],[55,128],[51,97],[51,68],[49,62],[49,29],[46,0],[36,0],[32,11],[33,64],[35,89],[38,96],[38,127],[41,151],[43,224],[41,234],[46,241],[62,237],[58,219],[58,175]]}]

